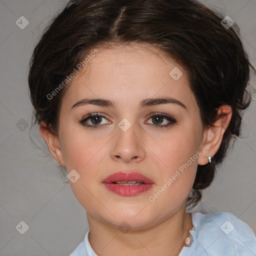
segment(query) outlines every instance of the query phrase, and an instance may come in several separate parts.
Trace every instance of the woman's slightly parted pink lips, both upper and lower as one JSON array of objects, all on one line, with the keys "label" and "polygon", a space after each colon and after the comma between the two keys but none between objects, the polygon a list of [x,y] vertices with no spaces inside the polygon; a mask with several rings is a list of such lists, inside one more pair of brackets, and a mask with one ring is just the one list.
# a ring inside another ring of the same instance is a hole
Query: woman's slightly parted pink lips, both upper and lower
[{"label": "woman's slightly parted pink lips, both upper and lower", "polygon": [[154,182],[138,172],[116,172],[102,183],[108,190],[123,196],[133,196],[150,189]]}]

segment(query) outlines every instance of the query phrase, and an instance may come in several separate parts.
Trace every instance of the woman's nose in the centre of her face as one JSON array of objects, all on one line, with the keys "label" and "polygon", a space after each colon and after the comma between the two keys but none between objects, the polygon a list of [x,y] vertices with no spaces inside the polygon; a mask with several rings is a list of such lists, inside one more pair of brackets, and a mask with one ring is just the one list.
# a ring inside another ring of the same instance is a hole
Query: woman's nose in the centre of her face
[{"label": "woman's nose in the centre of her face", "polygon": [[145,157],[143,138],[135,125],[131,125],[126,131],[117,127],[112,144],[111,158],[115,161],[139,162]]}]

